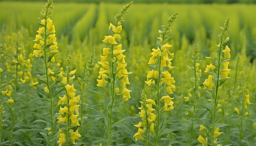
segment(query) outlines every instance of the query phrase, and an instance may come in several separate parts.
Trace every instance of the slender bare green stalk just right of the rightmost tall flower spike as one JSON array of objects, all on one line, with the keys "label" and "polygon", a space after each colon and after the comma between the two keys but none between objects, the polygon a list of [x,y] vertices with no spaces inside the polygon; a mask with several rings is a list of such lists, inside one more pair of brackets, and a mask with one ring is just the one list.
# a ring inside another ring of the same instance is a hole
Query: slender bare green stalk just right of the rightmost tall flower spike
[{"label": "slender bare green stalk just right of the rightmost tall flower spike", "polygon": [[[235,95],[236,95],[236,80],[237,80],[238,66],[239,66],[239,54],[238,54],[237,59],[236,59],[236,73],[235,73],[233,97],[235,97]],[[233,107],[234,107],[234,100],[231,100],[230,114],[231,114],[232,111],[233,111]],[[227,142],[229,142],[229,138],[230,138],[231,117],[232,117],[232,114],[229,116],[229,131],[228,131],[228,136],[227,136],[227,138],[228,138],[228,139],[227,139]]]}]

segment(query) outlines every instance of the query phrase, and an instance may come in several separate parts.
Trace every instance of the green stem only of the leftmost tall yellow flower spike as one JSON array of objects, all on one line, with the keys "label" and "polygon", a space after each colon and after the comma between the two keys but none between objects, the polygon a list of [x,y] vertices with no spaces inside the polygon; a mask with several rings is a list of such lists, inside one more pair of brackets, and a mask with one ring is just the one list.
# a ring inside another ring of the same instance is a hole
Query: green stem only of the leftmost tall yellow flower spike
[{"label": "green stem only of the leftmost tall yellow flower spike", "polygon": [[46,72],[46,84],[47,88],[49,89],[49,96],[50,96],[50,111],[51,111],[51,129],[52,129],[52,134],[51,134],[51,140],[50,140],[50,145],[52,146],[53,144],[53,135],[54,135],[54,129],[53,129],[53,104],[52,104],[52,93],[51,93],[51,88],[49,84],[49,77],[48,77],[48,66],[47,66],[47,60],[46,60],[46,38],[47,38],[47,11],[45,12],[45,34],[44,34],[44,62],[45,62],[45,72]]}]

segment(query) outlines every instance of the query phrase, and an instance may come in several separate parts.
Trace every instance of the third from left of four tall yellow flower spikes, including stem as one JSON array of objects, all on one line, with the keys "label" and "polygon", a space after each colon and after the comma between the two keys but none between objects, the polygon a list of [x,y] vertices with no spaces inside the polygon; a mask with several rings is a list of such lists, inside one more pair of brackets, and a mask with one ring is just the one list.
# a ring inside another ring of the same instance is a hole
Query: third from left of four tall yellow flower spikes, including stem
[{"label": "third from left of four tall yellow flower spikes, including stem", "polygon": [[[152,49],[152,57],[150,58],[148,64],[153,68],[152,71],[148,71],[147,81],[146,84],[148,86],[155,85],[157,87],[157,104],[156,104],[156,116],[157,121],[156,123],[156,132],[155,132],[155,146],[158,144],[159,140],[159,126],[160,126],[160,119],[161,114],[164,111],[171,111],[173,110],[173,98],[169,95],[173,94],[175,91],[175,80],[171,77],[169,70],[173,69],[171,60],[173,60],[174,53],[171,53],[171,45],[168,44],[168,40],[170,38],[171,30],[170,27],[174,24],[173,22],[176,20],[177,15],[179,13],[174,13],[171,15],[168,20],[166,20],[166,24],[163,26],[164,30],[159,30],[159,47],[157,49]],[[171,58],[169,58],[169,56]],[[162,88],[166,88],[167,95],[161,96],[160,90]],[[161,101],[164,101],[164,104],[161,104]]]}]

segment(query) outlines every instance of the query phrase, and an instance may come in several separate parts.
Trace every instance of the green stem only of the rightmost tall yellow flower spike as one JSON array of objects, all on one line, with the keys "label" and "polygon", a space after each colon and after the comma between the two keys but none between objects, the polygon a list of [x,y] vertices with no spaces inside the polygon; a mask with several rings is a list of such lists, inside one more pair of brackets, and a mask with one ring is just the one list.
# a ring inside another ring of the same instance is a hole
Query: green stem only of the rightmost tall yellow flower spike
[{"label": "green stem only of the rightmost tall yellow flower spike", "polygon": [[217,74],[217,85],[216,85],[216,93],[214,97],[214,104],[213,104],[213,121],[212,121],[212,131],[211,131],[211,144],[213,144],[213,135],[214,135],[214,129],[215,129],[215,120],[216,120],[216,108],[218,104],[218,88],[219,88],[219,78],[220,78],[220,57],[221,57],[221,49],[222,48],[222,38],[220,41],[220,49],[219,49],[219,58],[218,58],[218,74]]}]

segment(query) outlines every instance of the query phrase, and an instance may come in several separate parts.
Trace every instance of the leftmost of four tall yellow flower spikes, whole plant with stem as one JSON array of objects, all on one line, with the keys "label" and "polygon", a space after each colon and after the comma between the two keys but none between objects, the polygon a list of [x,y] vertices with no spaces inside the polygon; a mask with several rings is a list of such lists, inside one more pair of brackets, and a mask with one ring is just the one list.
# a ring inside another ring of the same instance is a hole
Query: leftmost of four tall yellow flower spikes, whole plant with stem
[{"label": "leftmost of four tall yellow flower spikes, whole plant with stem", "polygon": [[54,119],[53,119],[53,97],[51,91],[51,83],[49,81],[49,74],[53,74],[51,69],[49,69],[51,65],[51,61],[54,60],[54,55],[58,52],[57,41],[55,37],[55,27],[52,23],[52,20],[49,16],[52,15],[54,10],[53,0],[48,0],[44,9],[41,11],[41,22],[38,23],[41,27],[38,29],[38,35],[36,35],[36,39],[34,40],[36,43],[34,44],[34,52],[33,56],[42,57],[45,64],[45,75],[46,82],[42,81],[46,87],[45,92],[49,93],[49,101],[50,101],[50,113],[51,113],[51,145],[54,139]]}]

